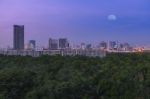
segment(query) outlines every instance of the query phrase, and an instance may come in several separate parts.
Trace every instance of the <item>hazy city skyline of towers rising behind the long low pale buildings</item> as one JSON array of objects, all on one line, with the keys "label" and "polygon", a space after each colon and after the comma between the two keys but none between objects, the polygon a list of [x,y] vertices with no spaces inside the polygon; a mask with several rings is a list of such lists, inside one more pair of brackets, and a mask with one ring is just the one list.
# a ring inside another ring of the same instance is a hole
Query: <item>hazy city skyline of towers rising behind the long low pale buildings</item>
[{"label": "hazy city skyline of towers rising behind the long low pale buildings", "polygon": [[[82,48],[82,45],[84,44],[84,46],[91,46],[92,48],[98,48],[99,45],[102,44],[102,46],[107,46],[107,45],[103,45],[104,43],[108,44],[111,43],[113,44],[112,46],[116,46],[119,48],[119,46],[121,47],[122,44],[129,44],[129,46],[131,45],[132,47],[136,48],[136,47],[148,47],[148,46],[136,46],[136,45],[132,45],[131,43],[125,41],[125,42],[120,42],[118,40],[108,40],[108,41],[98,41],[97,43],[92,43],[92,42],[80,42],[80,43],[72,43],[68,38],[63,38],[63,37],[49,37],[47,39],[47,43],[46,46],[44,45],[38,45],[36,44],[36,40],[34,39],[30,39],[27,42],[25,42],[25,27],[24,25],[13,25],[13,41],[11,41],[12,45],[8,45],[7,47],[2,47],[0,46],[0,48],[7,48],[7,49],[14,49],[14,50],[23,50],[23,49],[35,49],[35,48],[44,48],[44,49],[49,49],[49,50],[55,50],[55,49],[63,49],[63,48],[76,48],[78,46],[80,46]],[[40,42],[40,41],[39,41]],[[54,48],[54,49],[53,49]]]}]

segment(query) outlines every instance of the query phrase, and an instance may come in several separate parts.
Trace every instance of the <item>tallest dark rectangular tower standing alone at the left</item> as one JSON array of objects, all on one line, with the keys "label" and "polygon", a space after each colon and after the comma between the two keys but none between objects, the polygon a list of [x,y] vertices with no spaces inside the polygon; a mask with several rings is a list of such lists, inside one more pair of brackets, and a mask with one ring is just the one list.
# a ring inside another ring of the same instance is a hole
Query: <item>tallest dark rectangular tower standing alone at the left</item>
[{"label": "tallest dark rectangular tower standing alone at the left", "polygon": [[14,25],[14,50],[24,49],[24,26]]}]

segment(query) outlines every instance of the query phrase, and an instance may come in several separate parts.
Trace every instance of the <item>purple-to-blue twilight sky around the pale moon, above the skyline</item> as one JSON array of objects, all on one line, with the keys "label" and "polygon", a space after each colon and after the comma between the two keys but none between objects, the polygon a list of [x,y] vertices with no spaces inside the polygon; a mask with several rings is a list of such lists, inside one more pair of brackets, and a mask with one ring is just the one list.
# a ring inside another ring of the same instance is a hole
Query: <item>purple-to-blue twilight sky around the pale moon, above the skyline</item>
[{"label": "purple-to-blue twilight sky around the pale moon, above the skyline", "polygon": [[12,46],[13,24],[25,25],[25,42],[39,45],[49,37],[150,45],[150,0],[0,0],[0,47]]}]

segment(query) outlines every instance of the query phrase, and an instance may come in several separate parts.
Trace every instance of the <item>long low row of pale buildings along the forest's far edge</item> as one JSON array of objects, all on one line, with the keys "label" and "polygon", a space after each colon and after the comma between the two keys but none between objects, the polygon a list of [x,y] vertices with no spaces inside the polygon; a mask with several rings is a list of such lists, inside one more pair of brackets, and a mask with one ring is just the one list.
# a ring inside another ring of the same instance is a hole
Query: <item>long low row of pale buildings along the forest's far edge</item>
[{"label": "long low row of pale buildings along the forest's far edge", "polygon": [[41,55],[62,55],[62,56],[88,56],[88,57],[105,57],[106,51],[99,49],[82,50],[82,49],[64,49],[64,50],[0,50],[0,54],[3,55],[21,55],[21,56],[32,56],[39,57]]}]

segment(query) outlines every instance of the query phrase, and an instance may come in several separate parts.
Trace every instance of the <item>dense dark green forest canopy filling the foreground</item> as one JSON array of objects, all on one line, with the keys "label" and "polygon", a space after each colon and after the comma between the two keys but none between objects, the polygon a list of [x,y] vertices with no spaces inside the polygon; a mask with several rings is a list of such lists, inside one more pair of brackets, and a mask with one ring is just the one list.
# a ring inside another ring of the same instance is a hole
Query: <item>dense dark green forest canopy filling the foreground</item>
[{"label": "dense dark green forest canopy filling the foreground", "polygon": [[0,99],[150,99],[150,54],[0,55]]}]

